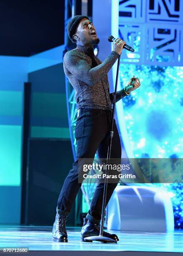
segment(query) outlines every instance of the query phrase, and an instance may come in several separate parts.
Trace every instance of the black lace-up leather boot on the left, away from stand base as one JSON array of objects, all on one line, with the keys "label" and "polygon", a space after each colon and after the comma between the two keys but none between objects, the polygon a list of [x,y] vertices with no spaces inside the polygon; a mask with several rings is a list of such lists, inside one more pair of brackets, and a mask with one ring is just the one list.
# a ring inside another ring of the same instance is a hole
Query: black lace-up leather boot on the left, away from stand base
[{"label": "black lace-up leather boot on the left, away from stand base", "polygon": [[53,241],[55,242],[67,242],[67,231],[66,231],[66,217],[62,217],[56,213],[55,222],[53,223]]}]

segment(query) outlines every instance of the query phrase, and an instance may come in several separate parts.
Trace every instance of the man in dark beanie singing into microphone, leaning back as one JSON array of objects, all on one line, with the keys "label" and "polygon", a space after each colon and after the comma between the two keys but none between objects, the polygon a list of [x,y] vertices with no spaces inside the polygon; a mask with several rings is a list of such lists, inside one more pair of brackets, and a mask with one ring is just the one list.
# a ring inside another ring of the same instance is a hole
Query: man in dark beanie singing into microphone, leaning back
[{"label": "man in dark beanie singing into microphone, leaning back", "polygon": [[[66,218],[81,187],[78,182],[78,159],[94,159],[97,151],[99,158],[107,158],[109,144],[110,122],[112,118],[112,104],[114,93],[109,93],[107,73],[118,59],[126,44],[120,38],[113,42],[113,50],[102,62],[94,55],[94,44],[99,43],[96,30],[83,15],[76,15],[67,25],[67,32],[76,48],[68,51],[64,56],[64,72],[75,90],[78,116],[76,120],[76,161],[67,175],[61,189],[56,218],[53,224],[53,241],[67,242]],[[132,77],[128,85],[117,92],[116,101],[130,95],[130,92],[140,86],[138,78]],[[114,136],[112,139],[111,158],[121,158],[121,143],[114,120]],[[117,183],[108,183],[107,200],[109,202]],[[102,199],[104,183],[98,183],[94,191],[88,214],[84,217],[81,230],[81,241],[88,236],[99,235],[99,223],[102,214]],[[104,236],[119,241],[117,235],[104,231]],[[88,240],[88,242],[90,242]]]}]

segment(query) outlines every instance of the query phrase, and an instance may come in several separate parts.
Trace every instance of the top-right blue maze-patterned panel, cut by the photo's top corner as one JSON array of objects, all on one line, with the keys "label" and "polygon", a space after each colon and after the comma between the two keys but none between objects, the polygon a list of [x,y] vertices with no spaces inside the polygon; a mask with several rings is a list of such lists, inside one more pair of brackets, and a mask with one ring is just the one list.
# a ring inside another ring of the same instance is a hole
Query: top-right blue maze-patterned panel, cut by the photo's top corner
[{"label": "top-right blue maze-patterned panel, cut by the photo's top corner", "polygon": [[147,22],[183,24],[182,0],[148,0]]}]

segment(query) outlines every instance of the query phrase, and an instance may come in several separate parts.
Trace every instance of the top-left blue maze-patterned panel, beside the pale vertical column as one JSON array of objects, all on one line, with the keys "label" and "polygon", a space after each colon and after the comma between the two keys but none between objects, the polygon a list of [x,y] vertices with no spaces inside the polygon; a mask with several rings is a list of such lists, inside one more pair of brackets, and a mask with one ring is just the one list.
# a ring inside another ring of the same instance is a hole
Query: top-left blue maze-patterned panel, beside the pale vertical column
[{"label": "top-left blue maze-patterned panel, beside the pale vertical column", "polygon": [[119,0],[119,24],[138,20],[138,23],[145,22],[145,0]]}]

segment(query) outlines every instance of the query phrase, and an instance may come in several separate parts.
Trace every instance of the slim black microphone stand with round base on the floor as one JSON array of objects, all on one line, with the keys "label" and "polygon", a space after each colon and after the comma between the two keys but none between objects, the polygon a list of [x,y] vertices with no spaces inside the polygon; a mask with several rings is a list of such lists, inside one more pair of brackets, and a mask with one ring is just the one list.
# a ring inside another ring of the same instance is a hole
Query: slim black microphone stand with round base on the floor
[{"label": "slim black microphone stand with round base on the floor", "polygon": [[[113,123],[114,123],[114,111],[115,111],[115,104],[116,104],[116,93],[117,93],[117,81],[118,81],[118,74],[119,74],[119,62],[120,62],[120,56],[118,57],[117,62],[117,74],[116,74],[116,84],[115,84],[115,90],[114,90],[114,102],[113,102],[113,108],[112,108],[112,120],[110,125],[110,133],[109,133],[109,146],[107,151],[107,164],[109,164],[110,156],[111,156],[111,146],[112,146],[112,138],[114,135],[113,132]],[[106,169],[106,177],[108,174],[108,170]],[[104,215],[105,215],[105,208],[106,208],[106,196],[107,196],[107,178],[105,177],[104,180],[104,195],[103,195],[103,202],[102,202],[102,218],[100,223],[100,233],[99,236],[89,236],[84,238],[84,240],[91,240],[91,241],[100,241],[103,243],[117,243],[117,241],[103,236],[103,230],[104,230]]]}]

